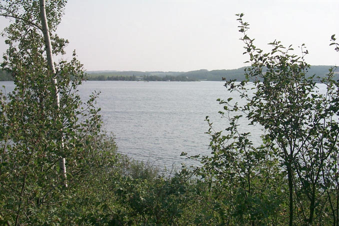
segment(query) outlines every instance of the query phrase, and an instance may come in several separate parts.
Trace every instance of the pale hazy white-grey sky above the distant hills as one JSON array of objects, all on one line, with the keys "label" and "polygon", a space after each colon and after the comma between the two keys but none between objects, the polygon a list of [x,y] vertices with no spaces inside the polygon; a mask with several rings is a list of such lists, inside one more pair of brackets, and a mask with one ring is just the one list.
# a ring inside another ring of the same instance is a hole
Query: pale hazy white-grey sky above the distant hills
[{"label": "pale hazy white-grey sky above the distant hills", "polygon": [[241,12],[264,51],[276,39],[300,54],[305,43],[307,63],[339,64],[329,46],[332,34],[339,40],[339,0],[68,0],[56,32],[69,40],[63,58],[75,49],[86,70],[233,69],[248,65]]}]

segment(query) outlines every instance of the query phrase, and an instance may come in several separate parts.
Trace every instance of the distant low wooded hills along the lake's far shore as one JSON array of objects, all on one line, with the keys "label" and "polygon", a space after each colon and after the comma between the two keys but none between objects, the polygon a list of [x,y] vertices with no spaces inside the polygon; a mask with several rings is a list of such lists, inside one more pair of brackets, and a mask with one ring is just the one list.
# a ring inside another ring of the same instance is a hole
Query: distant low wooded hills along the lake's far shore
[{"label": "distant low wooded hills along the lake's far shore", "polygon": [[[328,73],[329,65],[314,65],[307,72],[308,76],[315,74],[322,77]],[[123,80],[123,81],[220,81],[222,77],[225,80],[244,79],[244,68],[238,69],[220,69],[220,70],[192,70],[187,72],[179,71],[87,71],[87,80]],[[339,79],[339,71],[336,71],[335,79]],[[0,70],[0,81],[13,80],[9,72]]]}]

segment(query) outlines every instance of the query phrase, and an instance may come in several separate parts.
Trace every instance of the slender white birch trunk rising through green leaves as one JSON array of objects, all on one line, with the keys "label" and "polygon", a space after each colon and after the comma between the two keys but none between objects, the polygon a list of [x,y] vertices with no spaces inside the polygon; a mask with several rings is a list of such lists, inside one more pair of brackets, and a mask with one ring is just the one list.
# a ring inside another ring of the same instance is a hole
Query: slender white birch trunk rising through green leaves
[{"label": "slender white birch trunk rising through green leaves", "polygon": [[[60,108],[60,98],[59,98],[59,90],[57,88],[57,81],[56,81],[56,72],[54,67],[54,60],[53,60],[53,53],[52,53],[52,45],[50,42],[50,36],[49,36],[49,29],[47,24],[47,16],[46,16],[46,8],[45,8],[45,0],[40,0],[40,19],[41,19],[41,28],[43,33],[43,39],[46,47],[46,55],[47,55],[47,64],[48,69],[52,72],[54,75],[53,78],[53,84],[55,87],[55,99],[56,99],[56,105],[57,109]],[[63,148],[63,136],[61,133],[61,146]],[[65,187],[67,187],[67,175],[66,175],[66,160],[64,157],[61,157],[59,160],[60,170],[63,177],[63,184]]]}]

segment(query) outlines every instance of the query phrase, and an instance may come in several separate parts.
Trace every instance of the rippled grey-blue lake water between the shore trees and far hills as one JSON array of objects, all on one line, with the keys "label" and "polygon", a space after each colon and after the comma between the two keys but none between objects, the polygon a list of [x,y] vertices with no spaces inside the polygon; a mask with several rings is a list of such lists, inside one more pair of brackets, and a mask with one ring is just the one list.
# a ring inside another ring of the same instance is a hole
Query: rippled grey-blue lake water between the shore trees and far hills
[{"label": "rippled grey-blue lake water between the shore trees and far hills", "polygon": [[[13,88],[13,82],[0,85]],[[180,156],[182,151],[188,155],[210,153],[205,116],[210,116],[216,130],[222,130],[227,120],[218,114],[222,105],[216,99],[239,99],[222,81],[86,81],[79,87],[84,101],[94,90],[101,92],[97,107],[104,128],[115,135],[118,151],[169,170],[172,165],[196,164]],[[241,123],[241,129],[258,137],[260,128],[249,128],[247,123]]]}]

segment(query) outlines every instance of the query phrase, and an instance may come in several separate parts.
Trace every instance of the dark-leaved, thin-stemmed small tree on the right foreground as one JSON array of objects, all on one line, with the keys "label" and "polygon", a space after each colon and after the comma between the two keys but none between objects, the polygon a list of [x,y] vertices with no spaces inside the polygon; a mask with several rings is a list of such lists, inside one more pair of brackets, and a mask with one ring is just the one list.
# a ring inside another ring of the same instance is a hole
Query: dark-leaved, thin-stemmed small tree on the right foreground
[{"label": "dark-leaved, thin-stemmed small tree on the right foreground", "polygon": [[[228,99],[218,99],[229,127],[214,131],[206,117],[212,155],[193,156],[203,163],[198,174],[224,194],[213,208],[220,208],[225,225],[338,225],[335,67],[315,83],[315,75],[307,74],[304,45],[301,57],[279,41],[264,53],[247,36],[243,14],[237,16],[251,67],[245,80],[225,83]],[[262,128],[260,143],[252,139],[257,134],[241,129],[243,123]]]}]

